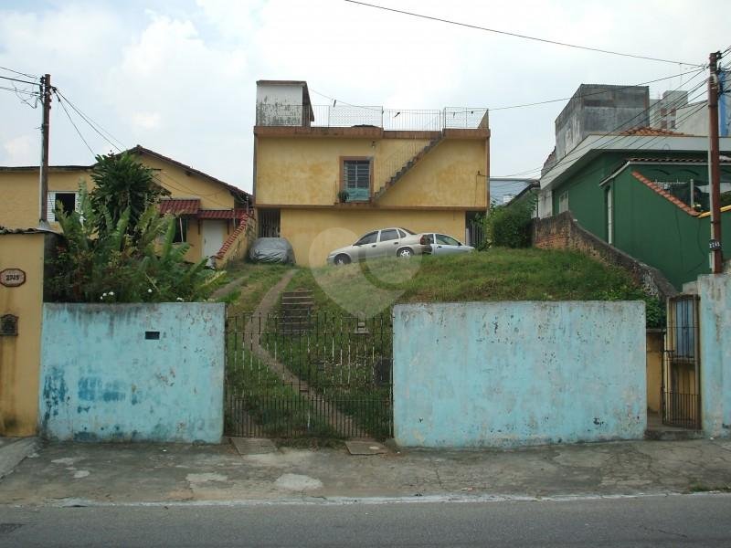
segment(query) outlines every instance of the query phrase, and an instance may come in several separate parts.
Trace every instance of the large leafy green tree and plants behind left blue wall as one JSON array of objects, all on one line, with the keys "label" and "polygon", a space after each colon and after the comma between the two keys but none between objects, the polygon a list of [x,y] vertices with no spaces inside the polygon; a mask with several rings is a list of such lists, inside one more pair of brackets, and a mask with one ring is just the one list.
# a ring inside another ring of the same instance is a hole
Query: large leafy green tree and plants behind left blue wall
[{"label": "large leafy green tree and plants behind left blue wall", "polygon": [[[122,156],[98,158],[103,165],[94,172],[96,177],[92,175],[97,187],[88,192],[85,184],[80,185],[79,212],[58,211],[64,237],[51,265],[49,300],[203,299],[223,272],[212,274],[205,259],[196,264],[185,261],[189,244],[173,243],[175,217],[160,216],[158,209],[166,191],[153,187],[148,168]],[[114,192],[126,203],[123,208],[113,199]],[[132,216],[132,211],[137,213]]]}]

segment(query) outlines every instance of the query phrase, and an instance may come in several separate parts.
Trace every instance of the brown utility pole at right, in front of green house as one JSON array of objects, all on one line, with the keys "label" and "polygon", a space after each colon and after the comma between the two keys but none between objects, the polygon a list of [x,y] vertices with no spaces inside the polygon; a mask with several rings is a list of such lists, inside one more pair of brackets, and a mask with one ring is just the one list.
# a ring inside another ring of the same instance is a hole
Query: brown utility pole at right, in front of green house
[{"label": "brown utility pole at right, in front of green house", "polygon": [[709,56],[711,74],[708,77],[708,181],[711,184],[711,271],[724,269],[721,248],[721,168],[718,144],[718,59],[720,52]]}]

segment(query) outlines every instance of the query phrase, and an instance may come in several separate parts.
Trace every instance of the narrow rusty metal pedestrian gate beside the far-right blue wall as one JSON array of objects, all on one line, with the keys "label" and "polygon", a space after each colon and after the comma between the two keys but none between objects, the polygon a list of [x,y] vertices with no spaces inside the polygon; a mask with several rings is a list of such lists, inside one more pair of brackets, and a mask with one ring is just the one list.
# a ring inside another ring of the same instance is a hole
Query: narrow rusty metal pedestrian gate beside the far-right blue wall
[{"label": "narrow rusty metal pedestrian gate beside the far-right blue wall", "polygon": [[662,423],[701,428],[701,360],[698,296],[668,300],[665,356],[662,361]]}]

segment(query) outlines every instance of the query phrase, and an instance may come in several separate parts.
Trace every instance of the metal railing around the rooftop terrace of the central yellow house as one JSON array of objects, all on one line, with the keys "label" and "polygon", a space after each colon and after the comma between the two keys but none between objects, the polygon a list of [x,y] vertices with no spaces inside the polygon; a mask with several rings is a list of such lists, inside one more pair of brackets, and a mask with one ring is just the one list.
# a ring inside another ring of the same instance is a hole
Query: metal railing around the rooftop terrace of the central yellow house
[{"label": "metal railing around the rooftop terrace of the central yellow house", "polygon": [[445,107],[442,110],[385,109],[352,105],[257,105],[257,126],[352,128],[372,127],[384,131],[441,132],[487,130],[488,110]]}]

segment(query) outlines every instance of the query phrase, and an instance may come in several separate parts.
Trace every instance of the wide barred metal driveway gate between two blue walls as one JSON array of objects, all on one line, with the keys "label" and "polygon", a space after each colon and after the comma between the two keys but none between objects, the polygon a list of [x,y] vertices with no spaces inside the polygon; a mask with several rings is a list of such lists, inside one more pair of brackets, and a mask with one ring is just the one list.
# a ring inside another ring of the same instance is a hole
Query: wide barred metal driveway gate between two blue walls
[{"label": "wide barred metal driveway gate between two blue walls", "polygon": [[229,317],[226,435],[392,437],[392,333],[390,313]]}]

